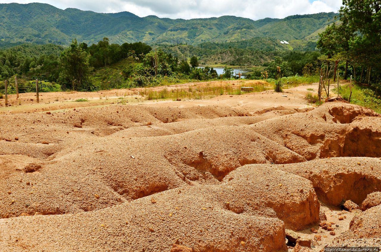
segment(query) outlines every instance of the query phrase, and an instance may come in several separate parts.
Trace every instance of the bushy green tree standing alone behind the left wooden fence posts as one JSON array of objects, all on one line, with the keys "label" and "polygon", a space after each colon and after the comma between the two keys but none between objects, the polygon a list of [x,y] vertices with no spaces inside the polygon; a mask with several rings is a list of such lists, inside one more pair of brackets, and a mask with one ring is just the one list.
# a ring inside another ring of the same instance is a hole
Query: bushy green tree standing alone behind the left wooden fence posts
[{"label": "bushy green tree standing alone behind the left wooden fence posts", "polygon": [[61,73],[59,74],[60,84],[70,87],[73,90],[91,89],[88,75],[91,72],[89,64],[90,54],[78,45],[74,39],[70,47],[61,53]]}]

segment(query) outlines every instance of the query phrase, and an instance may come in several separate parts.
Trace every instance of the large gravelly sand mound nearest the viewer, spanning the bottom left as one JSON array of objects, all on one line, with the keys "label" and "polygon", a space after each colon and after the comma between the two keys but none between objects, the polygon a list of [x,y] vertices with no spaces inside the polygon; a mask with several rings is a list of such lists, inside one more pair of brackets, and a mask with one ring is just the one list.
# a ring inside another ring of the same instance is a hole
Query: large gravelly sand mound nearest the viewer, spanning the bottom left
[{"label": "large gravelly sand mound nearest the viewer, spanning the bottom left", "polygon": [[[256,176],[258,172],[262,175]],[[58,243],[70,251],[169,251],[180,241],[194,251],[276,251],[285,247],[285,225],[300,228],[319,219],[319,202],[306,179],[247,165],[224,181],[166,190],[87,213],[2,220],[11,237],[6,246],[54,251]],[[20,233],[20,225],[28,229]],[[52,229],[49,238],[36,232],[42,229]]]}]

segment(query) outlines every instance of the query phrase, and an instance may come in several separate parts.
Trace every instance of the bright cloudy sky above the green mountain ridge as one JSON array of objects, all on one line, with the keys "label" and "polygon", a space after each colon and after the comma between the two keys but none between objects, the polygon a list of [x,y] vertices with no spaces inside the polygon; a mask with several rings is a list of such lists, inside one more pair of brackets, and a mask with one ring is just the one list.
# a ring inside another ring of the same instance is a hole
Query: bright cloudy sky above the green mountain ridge
[{"label": "bright cloudy sky above the green mountain ridge", "polygon": [[342,0],[0,0],[0,3],[49,3],[61,9],[96,12],[130,11],[160,18],[210,18],[224,15],[254,20],[337,11]]}]

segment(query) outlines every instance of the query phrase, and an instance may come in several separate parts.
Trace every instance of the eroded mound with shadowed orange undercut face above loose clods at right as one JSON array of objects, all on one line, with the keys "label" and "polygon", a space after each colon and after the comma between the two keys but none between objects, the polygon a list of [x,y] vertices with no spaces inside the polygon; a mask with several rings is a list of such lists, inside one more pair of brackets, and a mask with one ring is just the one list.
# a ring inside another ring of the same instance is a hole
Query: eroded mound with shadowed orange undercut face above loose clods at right
[{"label": "eroded mound with shadowed orange undercut face above loose clods at right", "polygon": [[311,180],[321,200],[339,206],[347,200],[361,206],[367,195],[381,191],[380,158],[329,158],[280,166]]}]

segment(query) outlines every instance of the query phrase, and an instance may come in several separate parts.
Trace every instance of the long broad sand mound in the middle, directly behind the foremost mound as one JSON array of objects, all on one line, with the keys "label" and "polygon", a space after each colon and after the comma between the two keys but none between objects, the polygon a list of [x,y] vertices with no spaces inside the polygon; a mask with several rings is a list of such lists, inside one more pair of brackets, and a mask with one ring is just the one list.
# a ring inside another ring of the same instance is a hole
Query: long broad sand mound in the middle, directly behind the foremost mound
[{"label": "long broad sand mound in the middle, directly behind the foremost mound", "polygon": [[0,188],[11,191],[16,201],[9,205],[9,197],[0,199],[2,216],[91,211],[187,184],[219,183],[245,164],[304,161],[252,129],[233,126],[160,137],[93,137],[92,141],[55,153],[38,172],[9,171],[13,172],[10,179],[0,178]]}]

